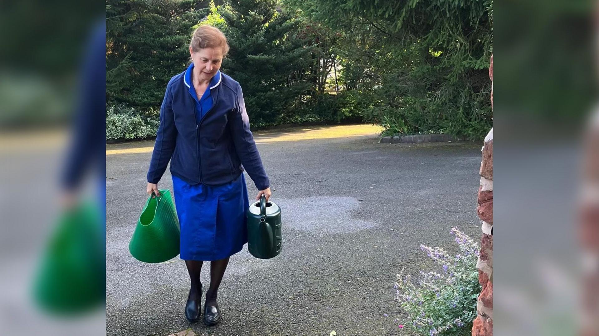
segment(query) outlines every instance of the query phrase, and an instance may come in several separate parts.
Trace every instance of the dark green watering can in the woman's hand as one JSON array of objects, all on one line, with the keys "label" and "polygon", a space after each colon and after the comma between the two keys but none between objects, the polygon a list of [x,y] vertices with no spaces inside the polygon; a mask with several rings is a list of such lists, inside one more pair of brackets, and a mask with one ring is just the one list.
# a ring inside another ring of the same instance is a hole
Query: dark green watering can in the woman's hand
[{"label": "dark green watering can in the woman's hand", "polygon": [[281,208],[262,195],[247,210],[247,249],[256,258],[270,259],[281,253],[282,240]]}]

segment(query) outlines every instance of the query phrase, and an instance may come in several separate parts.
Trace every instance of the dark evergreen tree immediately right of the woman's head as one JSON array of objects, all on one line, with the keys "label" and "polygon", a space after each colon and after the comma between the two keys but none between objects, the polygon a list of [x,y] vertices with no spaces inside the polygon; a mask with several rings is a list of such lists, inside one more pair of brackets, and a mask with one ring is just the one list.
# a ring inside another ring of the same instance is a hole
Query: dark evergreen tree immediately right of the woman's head
[{"label": "dark evergreen tree immediately right of the woman's head", "polygon": [[276,0],[231,1],[218,13],[231,47],[223,72],[241,84],[252,126],[290,118],[311,85],[304,78],[310,47],[297,38],[299,22]]}]

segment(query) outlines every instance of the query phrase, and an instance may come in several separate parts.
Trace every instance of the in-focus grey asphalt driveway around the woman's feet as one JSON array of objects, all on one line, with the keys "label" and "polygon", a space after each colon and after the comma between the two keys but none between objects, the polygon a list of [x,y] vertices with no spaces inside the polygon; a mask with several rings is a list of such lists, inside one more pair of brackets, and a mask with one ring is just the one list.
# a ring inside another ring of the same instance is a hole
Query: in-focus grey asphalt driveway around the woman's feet
[{"label": "in-focus grey asphalt driveway around the woman's feet", "polygon": [[[107,335],[399,333],[407,320],[394,301],[396,274],[433,267],[419,245],[453,251],[454,226],[480,236],[482,143],[379,144],[374,133],[307,132],[255,135],[271,200],[282,207],[283,252],[256,259],[246,245],[231,257],[219,290],[223,320],[211,327],[185,319],[189,278],[179,257],[145,264],[128,251],[151,153],[118,150],[153,142],[107,146],[116,153],[107,155]],[[246,181],[253,201],[257,190],[247,174]],[[172,188],[168,169],[159,188]],[[204,293],[209,273],[205,262]]]}]

